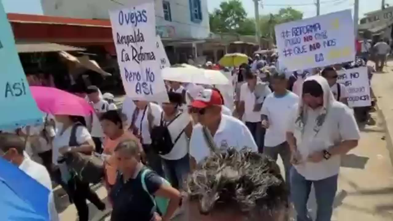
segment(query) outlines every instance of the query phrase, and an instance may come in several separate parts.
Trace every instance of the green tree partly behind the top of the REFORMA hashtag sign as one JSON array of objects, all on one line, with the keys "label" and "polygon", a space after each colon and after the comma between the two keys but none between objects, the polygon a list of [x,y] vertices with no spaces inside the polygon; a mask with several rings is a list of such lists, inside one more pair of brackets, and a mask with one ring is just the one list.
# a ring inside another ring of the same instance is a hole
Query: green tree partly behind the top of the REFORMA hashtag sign
[{"label": "green tree partly behind the top of the REFORMA hashtag sign", "polygon": [[278,13],[263,15],[260,18],[259,27],[261,28],[262,37],[270,37],[275,41],[274,26],[277,24],[300,20],[303,13],[292,7],[281,8]]}]

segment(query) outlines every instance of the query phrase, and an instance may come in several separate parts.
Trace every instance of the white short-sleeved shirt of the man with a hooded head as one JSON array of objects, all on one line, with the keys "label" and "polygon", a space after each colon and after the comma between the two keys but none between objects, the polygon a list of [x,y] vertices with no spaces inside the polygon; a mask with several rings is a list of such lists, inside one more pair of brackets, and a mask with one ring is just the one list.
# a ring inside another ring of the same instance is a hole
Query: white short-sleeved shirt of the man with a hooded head
[{"label": "white short-sleeved shirt of the man with a hooded head", "polygon": [[298,105],[291,111],[287,131],[292,132],[296,138],[296,145],[301,154],[301,163],[294,165],[298,173],[306,180],[321,180],[337,175],[340,170],[341,156],[335,155],[329,160],[322,160],[318,163],[307,161],[307,157],[316,152],[328,149],[332,145],[340,144],[345,140],[359,140],[360,132],[353,110],[349,107],[334,101],[326,115],[325,122],[320,131],[315,134],[315,120],[319,116],[318,111],[308,109],[304,132],[296,122]]}]

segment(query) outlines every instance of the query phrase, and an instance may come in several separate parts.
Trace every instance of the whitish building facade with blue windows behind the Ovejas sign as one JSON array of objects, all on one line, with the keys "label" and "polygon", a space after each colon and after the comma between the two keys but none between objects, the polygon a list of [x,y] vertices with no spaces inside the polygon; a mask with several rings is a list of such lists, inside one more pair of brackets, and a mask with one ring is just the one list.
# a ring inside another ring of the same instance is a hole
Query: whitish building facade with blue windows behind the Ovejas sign
[{"label": "whitish building facade with blue windows behind the Ovejas sign", "polygon": [[[125,7],[128,2],[130,1],[41,0],[44,15],[104,20],[109,19],[108,10]],[[154,5],[156,30],[162,39],[200,40],[209,36],[207,0],[154,0]]]}]

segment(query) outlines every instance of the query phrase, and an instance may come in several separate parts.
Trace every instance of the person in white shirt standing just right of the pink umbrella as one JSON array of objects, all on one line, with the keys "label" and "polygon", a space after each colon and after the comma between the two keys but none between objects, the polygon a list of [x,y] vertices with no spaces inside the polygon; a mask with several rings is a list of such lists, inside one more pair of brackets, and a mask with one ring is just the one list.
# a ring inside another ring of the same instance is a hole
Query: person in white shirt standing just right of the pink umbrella
[{"label": "person in white shirt standing just right of the pink umbrella", "polygon": [[104,136],[104,133],[99,118],[103,113],[109,110],[109,103],[99,96],[99,89],[94,85],[87,87],[87,96],[89,98],[90,104],[94,109],[95,115],[97,116],[96,118],[93,116],[91,131],[92,138],[95,144],[95,152],[101,153],[103,150],[101,140]]}]

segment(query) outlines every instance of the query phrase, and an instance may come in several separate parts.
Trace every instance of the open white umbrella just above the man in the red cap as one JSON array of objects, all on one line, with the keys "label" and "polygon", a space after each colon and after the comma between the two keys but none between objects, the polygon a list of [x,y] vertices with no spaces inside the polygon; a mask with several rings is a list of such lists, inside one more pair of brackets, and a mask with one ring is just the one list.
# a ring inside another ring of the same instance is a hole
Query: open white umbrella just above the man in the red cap
[{"label": "open white umbrella just above the man in the red cap", "polygon": [[195,83],[204,85],[228,85],[230,81],[219,70],[197,68],[189,64],[162,69],[162,77],[167,81]]}]

